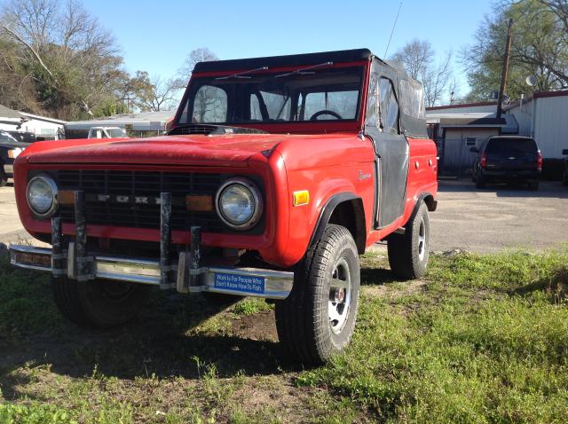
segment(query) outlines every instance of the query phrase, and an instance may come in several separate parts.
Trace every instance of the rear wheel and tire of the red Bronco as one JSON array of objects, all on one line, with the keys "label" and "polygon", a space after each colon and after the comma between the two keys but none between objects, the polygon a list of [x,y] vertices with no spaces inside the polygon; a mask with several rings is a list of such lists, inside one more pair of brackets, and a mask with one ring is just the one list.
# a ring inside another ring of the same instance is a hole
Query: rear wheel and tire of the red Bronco
[{"label": "rear wheel and tire of the red Bronco", "polygon": [[387,242],[390,270],[399,279],[420,279],[430,256],[430,219],[426,203],[410,217],[404,234],[393,233]]}]

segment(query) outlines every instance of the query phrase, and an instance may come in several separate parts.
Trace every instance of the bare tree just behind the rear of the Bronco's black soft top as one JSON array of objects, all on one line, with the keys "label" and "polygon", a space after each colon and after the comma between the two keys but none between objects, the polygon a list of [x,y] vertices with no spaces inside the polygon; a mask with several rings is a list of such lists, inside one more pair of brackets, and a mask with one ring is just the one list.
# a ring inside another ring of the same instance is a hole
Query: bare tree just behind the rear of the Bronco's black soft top
[{"label": "bare tree just behind the rear of the Bronco's black soft top", "polygon": [[426,106],[436,106],[446,97],[453,75],[451,52],[437,62],[430,42],[414,39],[398,50],[392,59],[401,62],[408,75],[422,82]]}]

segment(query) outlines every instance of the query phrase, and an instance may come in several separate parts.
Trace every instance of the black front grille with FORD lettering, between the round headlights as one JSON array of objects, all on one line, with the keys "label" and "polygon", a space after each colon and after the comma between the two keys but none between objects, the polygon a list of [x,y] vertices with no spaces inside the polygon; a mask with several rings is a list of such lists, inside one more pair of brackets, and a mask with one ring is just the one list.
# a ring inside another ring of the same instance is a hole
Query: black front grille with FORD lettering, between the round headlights
[{"label": "black front grille with FORD lettering, between the round headlights", "polygon": [[[225,174],[60,170],[54,177],[60,191],[83,190],[87,224],[159,228],[160,205],[152,200],[159,199],[161,192],[170,192],[172,230],[189,230],[192,225],[199,225],[205,232],[232,232],[217,212],[189,212],[185,206],[188,194],[215,196],[218,187],[230,177]],[[116,196],[146,197],[150,201],[148,204],[100,201],[101,195],[110,195],[111,199]],[[73,206],[61,205],[59,213],[64,222],[75,222]]]}]

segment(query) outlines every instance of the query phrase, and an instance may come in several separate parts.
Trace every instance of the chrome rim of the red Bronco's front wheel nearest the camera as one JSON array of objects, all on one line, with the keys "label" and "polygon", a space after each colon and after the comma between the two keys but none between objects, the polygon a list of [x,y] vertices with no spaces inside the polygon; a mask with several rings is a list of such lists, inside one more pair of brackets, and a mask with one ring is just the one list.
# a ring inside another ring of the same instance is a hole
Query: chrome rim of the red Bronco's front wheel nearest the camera
[{"label": "chrome rim of the red Bronco's front wheel nearest the camera", "polygon": [[351,309],[351,269],[347,259],[340,258],[335,263],[329,283],[329,302],[327,315],[329,326],[334,334],[340,334],[347,324]]}]

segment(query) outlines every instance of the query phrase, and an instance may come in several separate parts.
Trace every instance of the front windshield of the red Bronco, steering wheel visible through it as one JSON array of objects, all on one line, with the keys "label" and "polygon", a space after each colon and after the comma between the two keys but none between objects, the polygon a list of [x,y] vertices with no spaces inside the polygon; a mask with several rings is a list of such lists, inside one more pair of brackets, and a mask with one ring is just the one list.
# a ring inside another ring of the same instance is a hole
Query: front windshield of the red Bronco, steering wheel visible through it
[{"label": "front windshield of the red Bronco, steering wheel visible through it", "polygon": [[196,78],[177,123],[357,120],[362,76],[345,67]]}]

